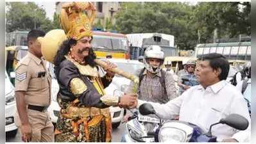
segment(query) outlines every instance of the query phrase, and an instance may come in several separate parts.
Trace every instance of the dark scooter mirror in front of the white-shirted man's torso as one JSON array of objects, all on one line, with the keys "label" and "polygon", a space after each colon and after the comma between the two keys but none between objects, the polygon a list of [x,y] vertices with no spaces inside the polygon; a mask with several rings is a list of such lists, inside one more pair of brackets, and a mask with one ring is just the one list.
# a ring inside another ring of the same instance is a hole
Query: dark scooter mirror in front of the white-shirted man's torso
[{"label": "dark scooter mirror in front of the white-shirted man's torso", "polygon": [[235,113],[228,115],[226,118],[221,119],[219,123],[229,125],[230,127],[233,127],[241,131],[246,130],[249,125],[249,122],[246,118]]}]

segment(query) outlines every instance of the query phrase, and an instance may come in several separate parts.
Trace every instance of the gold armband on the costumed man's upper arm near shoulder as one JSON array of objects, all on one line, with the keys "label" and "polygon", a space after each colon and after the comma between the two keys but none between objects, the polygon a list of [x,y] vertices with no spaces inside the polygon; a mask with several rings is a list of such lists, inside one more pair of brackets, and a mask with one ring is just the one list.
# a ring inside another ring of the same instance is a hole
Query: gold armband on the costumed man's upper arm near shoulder
[{"label": "gold armband on the costumed man's upper arm near shoulder", "polygon": [[87,86],[80,78],[74,78],[70,82],[71,92],[76,96],[87,90]]}]

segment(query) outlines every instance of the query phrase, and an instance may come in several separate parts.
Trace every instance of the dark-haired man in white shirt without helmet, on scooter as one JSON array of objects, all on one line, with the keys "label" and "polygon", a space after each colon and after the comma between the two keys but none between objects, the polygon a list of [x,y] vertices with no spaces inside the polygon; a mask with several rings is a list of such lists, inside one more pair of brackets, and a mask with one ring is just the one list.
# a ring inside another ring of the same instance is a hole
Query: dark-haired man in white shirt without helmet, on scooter
[{"label": "dark-haired man in white shirt without helmet, on scooter", "polygon": [[[250,141],[251,120],[246,101],[241,92],[225,81],[229,70],[228,61],[217,53],[205,54],[199,60],[195,74],[200,85],[192,86],[166,104],[149,103],[162,118],[180,115],[179,120],[196,124],[205,131],[209,131],[210,125],[221,118],[237,113],[249,121],[245,131],[219,124],[212,127],[212,134],[223,142]],[[145,102],[138,100],[137,107]]]}]

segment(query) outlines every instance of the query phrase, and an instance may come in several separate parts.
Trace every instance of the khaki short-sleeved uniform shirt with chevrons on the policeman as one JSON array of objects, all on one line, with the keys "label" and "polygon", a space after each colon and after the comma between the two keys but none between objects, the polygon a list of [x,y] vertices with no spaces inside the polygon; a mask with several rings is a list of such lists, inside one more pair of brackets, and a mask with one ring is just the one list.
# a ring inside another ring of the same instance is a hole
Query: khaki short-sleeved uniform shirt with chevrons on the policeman
[{"label": "khaki short-sleeved uniform shirt with chevrons on the policeman", "polygon": [[46,61],[28,52],[15,70],[15,91],[26,92],[26,104],[49,106],[51,76],[46,68]]}]

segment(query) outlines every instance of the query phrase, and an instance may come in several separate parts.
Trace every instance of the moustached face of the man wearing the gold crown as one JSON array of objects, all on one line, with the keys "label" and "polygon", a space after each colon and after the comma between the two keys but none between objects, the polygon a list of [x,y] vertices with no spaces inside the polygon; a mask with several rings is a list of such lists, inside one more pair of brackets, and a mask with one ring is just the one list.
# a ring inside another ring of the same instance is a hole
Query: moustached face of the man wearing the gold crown
[{"label": "moustached face of the man wearing the gold crown", "polygon": [[72,47],[74,54],[78,55],[79,57],[85,57],[89,55],[89,49],[92,47],[91,45],[92,37],[90,36],[84,36],[78,42],[76,45]]}]

